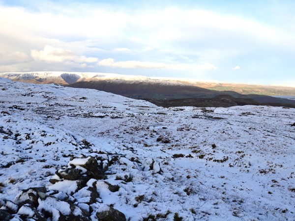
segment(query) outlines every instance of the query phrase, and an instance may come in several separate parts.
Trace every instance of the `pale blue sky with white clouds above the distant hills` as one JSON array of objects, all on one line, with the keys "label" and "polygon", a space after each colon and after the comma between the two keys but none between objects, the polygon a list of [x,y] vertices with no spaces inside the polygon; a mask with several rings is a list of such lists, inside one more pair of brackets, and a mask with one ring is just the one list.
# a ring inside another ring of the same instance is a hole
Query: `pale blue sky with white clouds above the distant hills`
[{"label": "pale blue sky with white clouds above the distant hills", "polygon": [[0,0],[0,72],[295,87],[294,0]]}]

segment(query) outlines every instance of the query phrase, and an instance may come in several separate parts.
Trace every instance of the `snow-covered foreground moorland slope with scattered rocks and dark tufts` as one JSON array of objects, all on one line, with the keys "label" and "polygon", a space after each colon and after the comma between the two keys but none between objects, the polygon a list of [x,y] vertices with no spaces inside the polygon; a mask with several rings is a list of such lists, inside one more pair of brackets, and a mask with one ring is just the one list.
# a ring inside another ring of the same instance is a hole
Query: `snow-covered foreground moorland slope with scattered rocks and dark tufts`
[{"label": "snow-covered foreground moorland slope with scattered rocks and dark tufts", "polygon": [[0,219],[295,220],[294,116],[0,79]]}]

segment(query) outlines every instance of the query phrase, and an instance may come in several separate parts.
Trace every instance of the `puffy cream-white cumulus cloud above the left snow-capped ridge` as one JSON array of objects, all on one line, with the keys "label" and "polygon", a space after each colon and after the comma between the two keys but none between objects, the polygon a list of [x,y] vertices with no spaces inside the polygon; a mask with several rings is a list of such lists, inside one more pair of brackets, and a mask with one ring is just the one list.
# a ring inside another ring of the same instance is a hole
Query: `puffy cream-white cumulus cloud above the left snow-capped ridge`
[{"label": "puffy cream-white cumulus cloud above the left snow-capped ridge", "polygon": [[93,63],[98,61],[95,57],[76,56],[70,50],[54,48],[50,45],[46,45],[41,51],[31,50],[31,56],[34,60],[46,62],[74,61],[78,63]]}]

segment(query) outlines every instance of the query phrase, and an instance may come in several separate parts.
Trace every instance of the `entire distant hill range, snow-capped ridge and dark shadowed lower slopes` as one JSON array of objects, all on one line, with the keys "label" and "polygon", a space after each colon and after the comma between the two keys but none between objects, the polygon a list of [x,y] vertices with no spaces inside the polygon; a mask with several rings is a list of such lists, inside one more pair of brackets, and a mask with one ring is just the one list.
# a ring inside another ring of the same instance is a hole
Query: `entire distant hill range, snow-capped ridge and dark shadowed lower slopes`
[{"label": "entire distant hill range, snow-capped ridge and dark shadowed lower slopes", "polygon": [[293,87],[79,72],[3,73],[0,77],[28,83],[59,83],[70,87],[92,88],[147,100],[162,107],[268,105],[295,108],[295,100],[268,96],[295,96]]}]

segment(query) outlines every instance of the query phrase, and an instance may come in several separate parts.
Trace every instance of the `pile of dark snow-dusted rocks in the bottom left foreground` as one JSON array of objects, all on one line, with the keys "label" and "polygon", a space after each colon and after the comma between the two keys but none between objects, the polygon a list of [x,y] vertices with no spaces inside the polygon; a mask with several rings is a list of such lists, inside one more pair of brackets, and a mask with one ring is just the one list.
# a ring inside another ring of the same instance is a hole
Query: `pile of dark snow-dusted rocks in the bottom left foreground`
[{"label": "pile of dark snow-dusted rocks in the bottom left foreground", "polygon": [[[66,168],[56,171],[48,188],[31,187],[22,190],[13,201],[5,201],[0,208],[0,220],[89,221],[94,213],[99,221],[125,221],[125,215],[113,207],[103,211],[98,208],[97,212],[93,209],[97,205],[91,207],[102,201],[96,182],[106,178],[104,168],[108,164],[108,156],[72,159]],[[119,190],[118,185],[103,182],[111,192]]]}]

